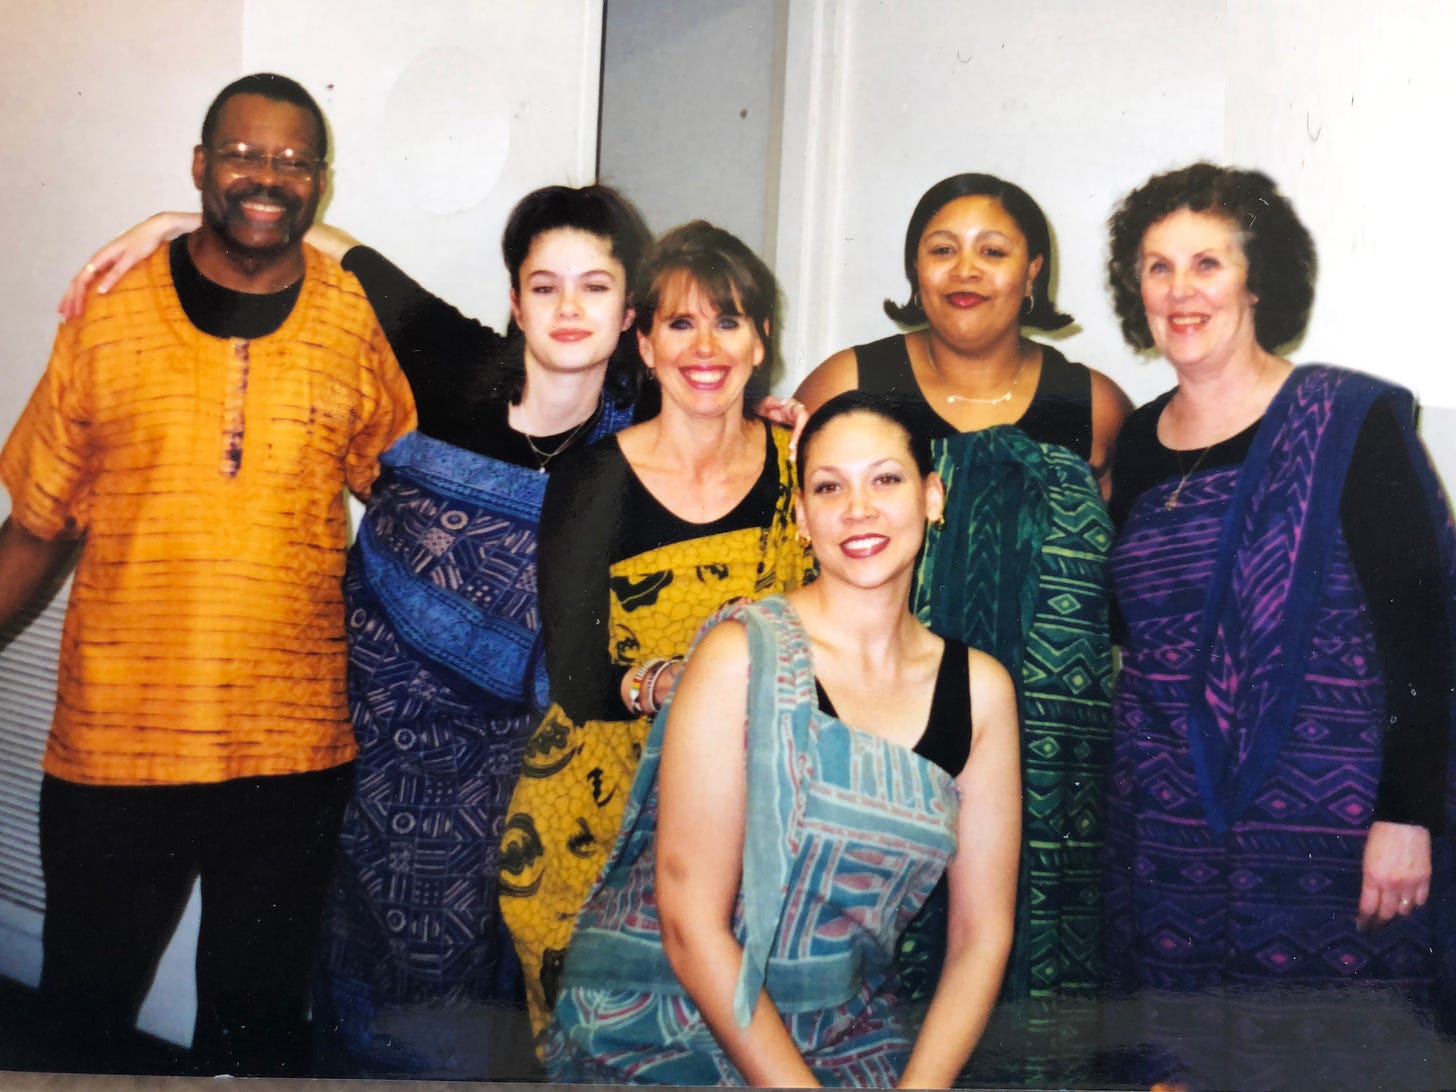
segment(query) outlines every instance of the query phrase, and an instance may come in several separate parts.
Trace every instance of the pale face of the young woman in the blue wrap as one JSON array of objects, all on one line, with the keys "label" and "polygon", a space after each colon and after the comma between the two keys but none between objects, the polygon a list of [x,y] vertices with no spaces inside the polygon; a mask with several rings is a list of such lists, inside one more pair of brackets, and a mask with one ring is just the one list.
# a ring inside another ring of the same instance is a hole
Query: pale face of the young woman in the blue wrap
[{"label": "pale face of the young woman in the blue wrap", "polygon": [[531,240],[511,290],[511,316],[526,335],[526,365],[547,371],[601,368],[632,325],[626,271],[612,242],[574,227]]}]

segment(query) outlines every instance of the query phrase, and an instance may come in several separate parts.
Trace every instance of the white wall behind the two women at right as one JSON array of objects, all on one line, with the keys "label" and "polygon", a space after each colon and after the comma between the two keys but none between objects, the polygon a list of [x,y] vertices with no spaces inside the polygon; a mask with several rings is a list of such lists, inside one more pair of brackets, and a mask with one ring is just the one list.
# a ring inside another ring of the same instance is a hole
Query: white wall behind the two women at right
[{"label": "white wall behind the two women at right", "polygon": [[1172,373],[1117,331],[1105,220],[1152,173],[1211,157],[1268,172],[1319,245],[1296,360],[1409,384],[1440,441],[1456,370],[1423,319],[1443,306],[1452,246],[1452,41],[1444,0],[795,0],[778,249],[789,381],[894,329],[881,300],[904,298],[916,199],[987,170],[1051,220],[1057,301],[1077,319],[1061,348],[1147,400]]}]

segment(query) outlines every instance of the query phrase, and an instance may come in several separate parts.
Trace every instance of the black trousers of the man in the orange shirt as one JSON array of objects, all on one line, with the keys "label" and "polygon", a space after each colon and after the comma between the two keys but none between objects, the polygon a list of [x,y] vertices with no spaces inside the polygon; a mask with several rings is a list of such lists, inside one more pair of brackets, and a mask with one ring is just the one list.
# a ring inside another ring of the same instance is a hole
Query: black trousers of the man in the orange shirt
[{"label": "black trousers of the man in the orange shirt", "polygon": [[157,961],[202,881],[192,1053],[202,1073],[298,1075],[309,976],[352,763],[215,785],[41,786],[41,997],[60,1041],[124,1064]]}]

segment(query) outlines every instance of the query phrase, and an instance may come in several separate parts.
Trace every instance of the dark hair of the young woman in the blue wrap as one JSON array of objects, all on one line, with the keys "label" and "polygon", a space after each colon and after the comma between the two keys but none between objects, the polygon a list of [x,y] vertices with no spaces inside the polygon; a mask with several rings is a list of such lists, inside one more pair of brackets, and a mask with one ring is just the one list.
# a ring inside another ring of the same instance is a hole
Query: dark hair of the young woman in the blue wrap
[{"label": "dark hair of the young woman in the blue wrap", "polygon": [[[652,233],[646,230],[632,202],[612,186],[543,186],[515,202],[501,233],[501,258],[505,259],[505,269],[511,275],[511,288],[520,294],[521,266],[531,252],[531,245],[539,236],[558,227],[585,232],[607,243],[607,250],[622,262],[626,274],[625,287],[630,307],[636,297],[642,256],[652,245]],[[510,332],[515,344],[501,360],[496,396],[518,403],[526,390],[526,357],[518,351],[524,341],[515,329],[514,319]],[[617,339],[617,348],[607,363],[603,390],[617,405],[630,405],[642,390],[645,374],[636,338],[628,329]]]}]

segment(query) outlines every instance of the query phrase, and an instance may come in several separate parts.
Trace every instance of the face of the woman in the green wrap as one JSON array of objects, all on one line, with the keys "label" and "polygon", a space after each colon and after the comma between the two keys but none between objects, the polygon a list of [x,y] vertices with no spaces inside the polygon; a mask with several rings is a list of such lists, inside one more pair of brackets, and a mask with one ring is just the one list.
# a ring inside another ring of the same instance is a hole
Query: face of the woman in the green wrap
[{"label": "face of the woman in the green wrap", "polygon": [[1042,258],[993,197],[961,197],[920,234],[920,306],[942,341],[978,351],[1021,335],[1021,307]]}]

